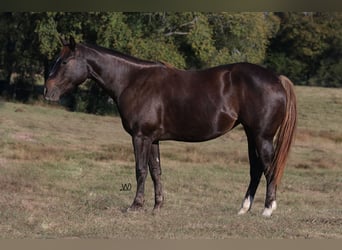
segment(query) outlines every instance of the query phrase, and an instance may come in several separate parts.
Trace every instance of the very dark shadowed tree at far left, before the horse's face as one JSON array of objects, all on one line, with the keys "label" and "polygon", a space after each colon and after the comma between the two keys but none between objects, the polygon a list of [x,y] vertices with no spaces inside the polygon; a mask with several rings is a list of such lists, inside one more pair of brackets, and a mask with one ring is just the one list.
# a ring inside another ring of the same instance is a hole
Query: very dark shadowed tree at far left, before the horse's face
[{"label": "very dark shadowed tree at far left, before the horse's face", "polygon": [[35,75],[42,69],[42,54],[35,33],[40,15],[29,12],[0,15],[0,40],[5,45],[1,52],[5,82],[11,85],[12,96],[23,101],[33,94]]}]

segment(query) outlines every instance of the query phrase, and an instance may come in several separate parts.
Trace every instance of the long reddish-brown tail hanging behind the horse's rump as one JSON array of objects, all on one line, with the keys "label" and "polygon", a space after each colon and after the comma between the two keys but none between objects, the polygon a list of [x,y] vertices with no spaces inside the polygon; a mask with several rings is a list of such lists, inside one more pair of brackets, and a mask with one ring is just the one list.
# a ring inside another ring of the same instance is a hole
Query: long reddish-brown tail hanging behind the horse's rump
[{"label": "long reddish-brown tail hanging behind the horse's rump", "polygon": [[293,83],[286,76],[279,76],[279,80],[286,91],[286,114],[279,127],[275,140],[275,152],[272,163],[273,175],[276,185],[283,176],[286,160],[294,139],[297,125],[297,102]]}]

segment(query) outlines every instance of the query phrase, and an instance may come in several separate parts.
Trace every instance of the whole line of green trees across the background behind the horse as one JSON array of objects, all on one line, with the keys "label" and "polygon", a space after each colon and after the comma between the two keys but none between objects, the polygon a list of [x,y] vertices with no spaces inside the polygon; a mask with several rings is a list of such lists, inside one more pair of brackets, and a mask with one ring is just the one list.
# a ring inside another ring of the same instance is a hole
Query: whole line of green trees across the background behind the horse
[{"label": "whole line of green trees across the background behind the horse", "polygon": [[[342,86],[341,12],[3,12],[1,96],[39,98],[69,35],[182,69],[247,61],[295,84]],[[112,104],[90,81],[67,105],[103,113]]]}]

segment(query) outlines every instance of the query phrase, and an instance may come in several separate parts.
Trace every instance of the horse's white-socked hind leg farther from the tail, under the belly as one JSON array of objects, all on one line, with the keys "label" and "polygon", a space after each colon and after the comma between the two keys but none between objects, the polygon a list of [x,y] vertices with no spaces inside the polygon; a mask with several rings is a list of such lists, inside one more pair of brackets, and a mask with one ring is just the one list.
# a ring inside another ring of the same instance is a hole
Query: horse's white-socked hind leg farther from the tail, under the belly
[{"label": "horse's white-socked hind leg farther from the tail, under the belly", "polygon": [[245,131],[246,131],[247,140],[248,140],[248,156],[249,156],[249,163],[250,163],[250,178],[251,179],[250,179],[250,183],[249,183],[245,198],[242,202],[241,208],[238,213],[240,215],[247,213],[251,209],[254,196],[258,188],[261,175],[263,173],[263,166],[256,150],[254,137],[249,131],[247,131],[247,129],[245,129]]}]

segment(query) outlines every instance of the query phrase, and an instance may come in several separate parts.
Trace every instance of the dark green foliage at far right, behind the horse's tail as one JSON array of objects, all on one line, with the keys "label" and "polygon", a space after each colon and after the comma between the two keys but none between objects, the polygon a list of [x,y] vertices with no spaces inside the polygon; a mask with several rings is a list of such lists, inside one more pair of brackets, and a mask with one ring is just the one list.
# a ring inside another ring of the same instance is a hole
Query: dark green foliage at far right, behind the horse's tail
[{"label": "dark green foliage at far right, behind the horse's tail", "polygon": [[[266,63],[300,84],[342,86],[342,13],[277,13],[280,30]],[[333,82],[331,82],[333,81]]]}]

